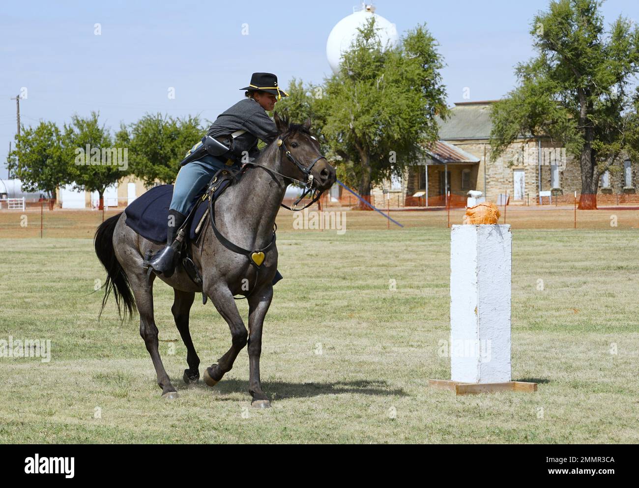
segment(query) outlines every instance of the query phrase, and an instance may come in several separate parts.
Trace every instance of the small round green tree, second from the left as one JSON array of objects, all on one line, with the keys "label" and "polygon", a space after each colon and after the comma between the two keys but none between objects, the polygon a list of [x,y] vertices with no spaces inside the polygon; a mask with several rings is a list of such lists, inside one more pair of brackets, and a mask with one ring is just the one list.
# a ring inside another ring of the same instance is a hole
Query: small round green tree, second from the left
[{"label": "small round green tree, second from the left", "polygon": [[65,124],[64,146],[73,189],[98,192],[102,209],[106,188],[128,173],[128,151],[118,151],[109,129],[100,126],[99,116],[98,112],[87,118],[74,114],[70,125]]}]

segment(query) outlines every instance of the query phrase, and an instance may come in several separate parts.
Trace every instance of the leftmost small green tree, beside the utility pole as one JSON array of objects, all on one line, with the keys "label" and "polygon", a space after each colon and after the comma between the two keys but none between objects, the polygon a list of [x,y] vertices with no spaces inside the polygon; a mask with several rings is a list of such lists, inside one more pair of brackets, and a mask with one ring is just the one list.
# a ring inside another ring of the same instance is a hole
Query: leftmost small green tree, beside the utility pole
[{"label": "leftmost small green tree, beside the utility pole", "polygon": [[63,135],[53,122],[40,121],[35,127],[20,127],[15,148],[7,156],[11,178],[19,178],[27,192],[56,194],[59,185],[69,182],[68,162],[63,151]]}]

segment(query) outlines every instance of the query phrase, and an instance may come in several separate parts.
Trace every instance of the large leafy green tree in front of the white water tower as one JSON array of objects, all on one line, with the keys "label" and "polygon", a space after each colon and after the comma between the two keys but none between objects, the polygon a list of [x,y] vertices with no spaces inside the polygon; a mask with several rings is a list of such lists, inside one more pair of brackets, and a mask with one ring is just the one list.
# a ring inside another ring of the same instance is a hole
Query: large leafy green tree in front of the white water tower
[{"label": "large leafy green tree in front of the white water tower", "polygon": [[403,170],[436,141],[436,116],[446,118],[443,61],[426,26],[406,33],[396,48],[383,49],[374,17],[358,29],[338,75],[322,85],[291,83],[279,102],[293,120],[310,116],[328,155],[338,155],[339,178],[357,182],[365,198],[373,184]]}]

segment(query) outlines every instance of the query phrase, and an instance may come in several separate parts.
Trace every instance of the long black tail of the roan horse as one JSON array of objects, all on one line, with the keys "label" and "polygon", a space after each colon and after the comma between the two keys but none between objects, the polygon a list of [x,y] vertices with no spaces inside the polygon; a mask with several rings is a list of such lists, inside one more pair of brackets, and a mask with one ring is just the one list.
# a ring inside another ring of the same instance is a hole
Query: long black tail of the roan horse
[{"label": "long black tail of the roan horse", "polygon": [[[116,304],[118,305],[118,315],[124,320],[128,316],[133,315],[133,307],[135,305],[135,299],[131,293],[131,288],[128,284],[128,278],[119,264],[118,258],[113,249],[113,233],[118,224],[118,219],[122,213],[107,218],[98,230],[95,231],[95,238],[93,243],[95,245],[95,254],[98,255],[100,263],[107,270],[107,281],[104,284],[104,298],[102,298],[102,307],[100,307],[100,314],[98,319],[102,315],[107,304],[109,294],[113,291]],[[124,314],[122,313],[124,312]]]}]

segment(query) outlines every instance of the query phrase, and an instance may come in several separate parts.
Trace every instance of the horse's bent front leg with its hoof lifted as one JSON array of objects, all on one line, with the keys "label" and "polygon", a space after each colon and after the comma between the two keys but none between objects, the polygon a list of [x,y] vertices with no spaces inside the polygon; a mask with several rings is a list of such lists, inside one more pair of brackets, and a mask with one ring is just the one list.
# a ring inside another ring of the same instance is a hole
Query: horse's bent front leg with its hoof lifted
[{"label": "horse's bent front leg with its hoof lifted", "polygon": [[231,329],[231,348],[226,354],[217,360],[217,364],[213,363],[204,371],[204,381],[208,386],[215,384],[222,379],[222,376],[233,368],[235,358],[238,356],[242,348],[246,346],[249,333],[244,326],[238,307],[233,300],[233,294],[224,284],[216,284],[215,287],[209,287],[206,294],[213,301],[213,305],[220,315],[224,317],[226,323]]}]

